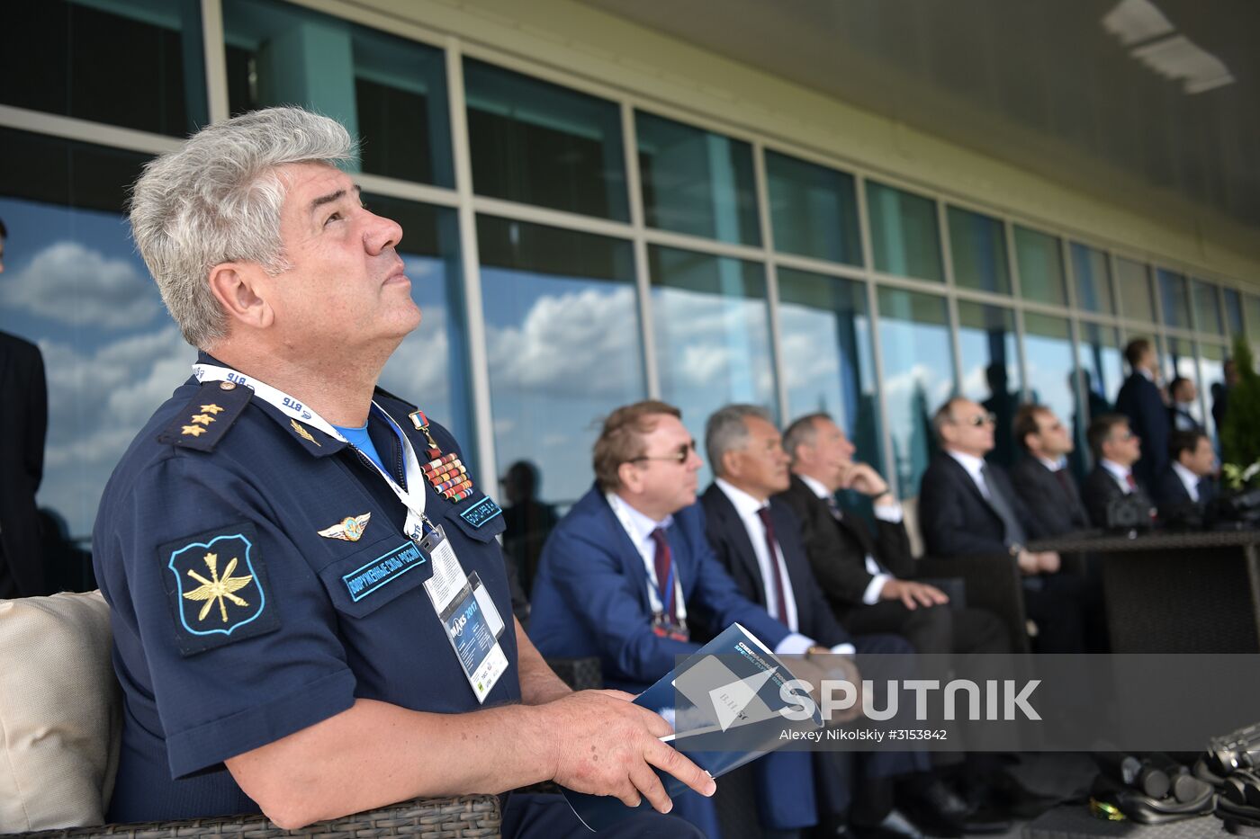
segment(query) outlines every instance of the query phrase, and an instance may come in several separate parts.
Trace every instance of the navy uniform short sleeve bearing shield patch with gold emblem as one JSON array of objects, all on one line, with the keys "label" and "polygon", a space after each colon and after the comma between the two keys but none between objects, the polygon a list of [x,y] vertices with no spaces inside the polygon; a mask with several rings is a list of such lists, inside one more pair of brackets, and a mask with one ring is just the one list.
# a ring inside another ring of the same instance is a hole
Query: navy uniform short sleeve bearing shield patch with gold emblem
[{"label": "navy uniform short sleeve bearing shield patch with gold emblem", "polygon": [[111,505],[116,661],[129,695],[156,705],[173,777],[354,703],[335,610],[285,530],[286,479],[300,475],[268,474],[265,496],[231,464],[176,451]]}]

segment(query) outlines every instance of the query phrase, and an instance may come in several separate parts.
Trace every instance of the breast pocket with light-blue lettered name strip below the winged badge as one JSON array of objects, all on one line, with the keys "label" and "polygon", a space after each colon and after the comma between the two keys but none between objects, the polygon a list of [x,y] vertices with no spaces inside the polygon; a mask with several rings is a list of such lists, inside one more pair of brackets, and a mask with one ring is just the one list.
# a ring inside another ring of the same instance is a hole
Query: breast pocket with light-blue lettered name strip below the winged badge
[{"label": "breast pocket with light-blue lettered name strip below the winged badge", "polygon": [[433,567],[416,543],[398,535],[335,559],[319,576],[338,611],[364,617],[418,588]]}]

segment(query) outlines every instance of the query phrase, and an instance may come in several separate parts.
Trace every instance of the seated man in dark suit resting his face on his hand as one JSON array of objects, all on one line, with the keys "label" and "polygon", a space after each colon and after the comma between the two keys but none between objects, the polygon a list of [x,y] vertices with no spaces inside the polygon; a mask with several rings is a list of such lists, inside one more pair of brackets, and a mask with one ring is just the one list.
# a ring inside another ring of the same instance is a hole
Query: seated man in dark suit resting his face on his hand
[{"label": "seated man in dark suit resting his face on his hand", "polygon": [[[832,610],[856,634],[893,632],[919,653],[1005,653],[997,616],[953,608],[935,586],[915,582],[915,559],[901,504],[869,465],[853,461],[854,446],[825,413],[793,422],[784,433],[791,485],[776,495],[805,523],[805,552]],[[835,499],[850,489],[874,503],[876,535]]]}]

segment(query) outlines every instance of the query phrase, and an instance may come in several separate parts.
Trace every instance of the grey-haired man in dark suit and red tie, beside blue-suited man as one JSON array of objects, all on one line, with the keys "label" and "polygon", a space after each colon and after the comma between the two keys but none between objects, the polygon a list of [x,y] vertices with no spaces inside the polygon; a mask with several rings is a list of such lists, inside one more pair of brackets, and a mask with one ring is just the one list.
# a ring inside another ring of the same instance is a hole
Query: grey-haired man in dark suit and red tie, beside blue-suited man
[{"label": "grey-haired man in dark suit and red tie, beside blue-suited man", "polygon": [[[800,520],[785,501],[774,498],[789,486],[788,455],[764,409],[732,404],[714,412],[706,423],[704,451],[716,475],[701,496],[709,544],[740,590],[801,639],[798,651],[856,651],[886,661],[914,651],[895,635],[850,636],[835,620],[810,571]],[[838,752],[818,753],[819,797],[828,826],[840,820],[850,799],[847,777],[837,767],[840,757],[844,755]],[[775,760],[795,760],[795,755],[775,752],[764,761],[764,770],[775,771]],[[861,834],[878,825],[892,808],[892,781],[898,776],[905,795],[914,796],[919,813],[939,830],[956,835],[973,828],[966,804],[926,775],[927,767],[922,752],[862,755],[861,791],[852,796],[849,830]]]}]

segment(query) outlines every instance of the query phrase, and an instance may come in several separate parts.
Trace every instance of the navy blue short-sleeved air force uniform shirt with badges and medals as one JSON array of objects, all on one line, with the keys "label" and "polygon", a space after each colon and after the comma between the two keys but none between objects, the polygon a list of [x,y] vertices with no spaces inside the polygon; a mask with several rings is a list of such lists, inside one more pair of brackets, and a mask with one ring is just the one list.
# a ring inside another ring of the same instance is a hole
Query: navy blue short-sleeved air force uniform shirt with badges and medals
[{"label": "navy blue short-sleeved air force uniform shirt with badges and medals", "polygon": [[[441,713],[520,698],[495,503],[476,489],[452,503],[422,481],[426,515],[507,622],[508,669],[483,705],[422,585],[432,563],[403,535],[406,509],[386,481],[344,442],[226,384],[175,391],[97,517],[125,714],[111,821],[257,813],[223,761],[357,698]],[[413,408],[375,401],[423,461]],[[368,432],[402,484],[397,436],[375,416]],[[446,430],[431,433],[459,452]]]}]

